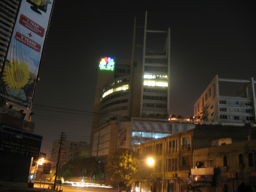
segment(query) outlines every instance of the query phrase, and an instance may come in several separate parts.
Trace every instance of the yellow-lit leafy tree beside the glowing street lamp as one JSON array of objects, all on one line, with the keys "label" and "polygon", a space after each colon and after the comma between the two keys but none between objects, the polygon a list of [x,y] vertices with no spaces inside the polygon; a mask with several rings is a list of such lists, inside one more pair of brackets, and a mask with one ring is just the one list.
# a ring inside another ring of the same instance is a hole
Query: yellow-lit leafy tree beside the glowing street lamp
[{"label": "yellow-lit leafy tree beside the glowing street lamp", "polygon": [[119,191],[119,182],[125,181],[126,191],[132,182],[139,178],[139,156],[137,153],[127,149],[119,148],[108,161],[106,172],[117,182]]}]

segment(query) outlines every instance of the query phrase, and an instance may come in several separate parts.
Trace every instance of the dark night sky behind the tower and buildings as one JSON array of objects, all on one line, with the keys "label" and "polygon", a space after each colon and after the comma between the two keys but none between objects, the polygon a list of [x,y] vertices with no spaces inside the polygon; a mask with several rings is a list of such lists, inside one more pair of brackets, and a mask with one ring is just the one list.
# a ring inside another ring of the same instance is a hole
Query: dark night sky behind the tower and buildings
[{"label": "dark night sky behind the tower and buildings", "polygon": [[44,47],[32,107],[41,151],[61,132],[89,142],[99,57],[131,59],[134,17],[144,25],[145,11],[147,29],[171,28],[170,114],[193,115],[216,75],[256,79],[255,1],[74,2],[55,2]]}]

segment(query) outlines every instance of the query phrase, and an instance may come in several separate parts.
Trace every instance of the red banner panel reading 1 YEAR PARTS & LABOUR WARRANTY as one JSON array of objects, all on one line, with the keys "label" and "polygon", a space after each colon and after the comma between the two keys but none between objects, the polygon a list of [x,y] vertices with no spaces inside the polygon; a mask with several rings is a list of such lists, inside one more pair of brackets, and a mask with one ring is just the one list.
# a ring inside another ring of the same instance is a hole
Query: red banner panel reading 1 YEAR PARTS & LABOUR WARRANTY
[{"label": "red banner panel reading 1 YEAR PARTS & LABOUR WARRANTY", "polygon": [[26,17],[25,15],[20,15],[20,21],[19,23],[24,26],[25,28],[28,28],[30,31],[33,31],[35,34],[43,37],[44,36],[44,28]]}]

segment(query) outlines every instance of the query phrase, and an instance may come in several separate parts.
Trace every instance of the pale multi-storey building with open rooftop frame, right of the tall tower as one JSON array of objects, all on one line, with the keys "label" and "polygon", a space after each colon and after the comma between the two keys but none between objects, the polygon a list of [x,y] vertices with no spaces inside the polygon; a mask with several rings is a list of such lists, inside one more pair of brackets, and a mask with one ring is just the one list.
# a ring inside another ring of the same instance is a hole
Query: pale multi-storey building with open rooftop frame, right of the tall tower
[{"label": "pale multi-storey building with open rooftop frame, right of the tall tower", "polygon": [[223,79],[218,75],[194,105],[194,116],[225,125],[255,124],[255,84],[250,80]]}]

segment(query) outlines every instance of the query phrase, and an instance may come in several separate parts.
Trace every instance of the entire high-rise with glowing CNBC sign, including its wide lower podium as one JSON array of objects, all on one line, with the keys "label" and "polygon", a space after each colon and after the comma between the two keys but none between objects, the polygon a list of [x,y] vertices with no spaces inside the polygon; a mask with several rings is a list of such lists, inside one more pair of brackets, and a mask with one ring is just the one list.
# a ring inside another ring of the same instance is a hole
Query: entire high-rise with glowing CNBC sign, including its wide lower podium
[{"label": "entire high-rise with glowing CNBC sign, including its wide lower podium", "polygon": [[[92,156],[101,158],[105,165],[120,147],[134,150],[134,144],[194,128],[167,120],[170,28],[148,29],[147,12],[144,26],[140,25],[135,18],[131,59],[99,60],[90,145]],[[100,177],[111,184],[104,167],[102,170]]]}]

